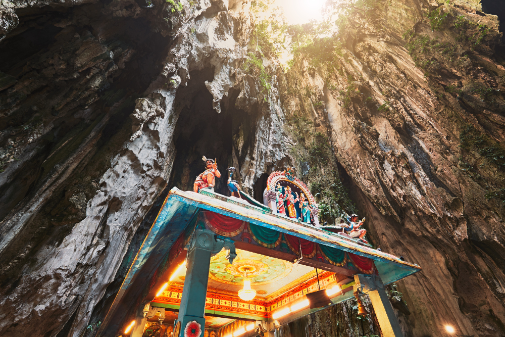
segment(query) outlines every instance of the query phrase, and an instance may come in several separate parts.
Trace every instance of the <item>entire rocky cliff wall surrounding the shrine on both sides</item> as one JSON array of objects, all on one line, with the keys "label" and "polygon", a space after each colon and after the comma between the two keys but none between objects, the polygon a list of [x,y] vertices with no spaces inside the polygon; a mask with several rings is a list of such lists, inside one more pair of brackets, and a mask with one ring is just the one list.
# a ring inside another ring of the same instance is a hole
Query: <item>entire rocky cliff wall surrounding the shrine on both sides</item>
[{"label": "entire rocky cliff wall surrounding the shrine on both sides", "polygon": [[[257,199],[294,165],[326,221],[358,209],[375,246],[420,264],[391,289],[405,335],[505,335],[496,17],[394,0],[284,72],[247,45],[250,5],[2,2],[0,334],[92,335],[167,187],[206,155]],[[380,334],[351,303],[307,319],[283,333]]]}]

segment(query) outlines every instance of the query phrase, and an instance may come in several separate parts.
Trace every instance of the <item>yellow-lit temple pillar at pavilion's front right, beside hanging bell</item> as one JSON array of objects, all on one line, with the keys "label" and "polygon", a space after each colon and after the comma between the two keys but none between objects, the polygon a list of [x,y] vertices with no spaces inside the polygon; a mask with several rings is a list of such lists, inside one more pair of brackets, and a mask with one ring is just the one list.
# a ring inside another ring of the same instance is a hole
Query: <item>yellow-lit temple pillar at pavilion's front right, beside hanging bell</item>
[{"label": "yellow-lit temple pillar at pavilion's front right, beside hanging bell", "polygon": [[403,337],[398,319],[384,290],[381,278],[375,274],[358,274],[354,275],[354,280],[356,281],[354,291],[361,290],[370,297],[370,302],[372,302],[372,306],[374,307],[375,316],[382,330],[382,335]]}]

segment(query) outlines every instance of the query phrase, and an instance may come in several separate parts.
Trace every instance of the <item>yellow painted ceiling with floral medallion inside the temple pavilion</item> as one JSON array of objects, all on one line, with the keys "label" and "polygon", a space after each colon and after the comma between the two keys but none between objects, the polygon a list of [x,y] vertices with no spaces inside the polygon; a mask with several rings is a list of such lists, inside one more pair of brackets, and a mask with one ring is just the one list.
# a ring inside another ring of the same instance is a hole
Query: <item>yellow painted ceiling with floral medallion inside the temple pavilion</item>
[{"label": "yellow painted ceiling with floral medallion inside the temple pavilion", "polygon": [[[291,262],[237,249],[237,258],[233,265],[226,260],[226,251],[221,251],[211,258],[208,292],[222,290],[236,293],[243,287],[245,277],[251,279],[251,287],[257,297],[270,297],[279,291],[284,293],[289,288],[306,282],[316,276],[312,267],[292,264]],[[184,283],[186,269],[173,275],[172,281]],[[281,294],[278,294],[281,295]]]}]

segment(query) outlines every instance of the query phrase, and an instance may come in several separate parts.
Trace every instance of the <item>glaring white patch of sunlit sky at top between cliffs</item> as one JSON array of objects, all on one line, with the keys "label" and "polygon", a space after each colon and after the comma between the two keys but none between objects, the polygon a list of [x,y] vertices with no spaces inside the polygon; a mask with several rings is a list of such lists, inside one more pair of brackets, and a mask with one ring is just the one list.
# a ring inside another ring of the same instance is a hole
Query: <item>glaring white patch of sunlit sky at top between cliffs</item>
[{"label": "glaring white patch of sunlit sky at top between cliffs", "polygon": [[273,7],[281,7],[288,25],[321,20],[321,9],[326,0],[275,0]]}]

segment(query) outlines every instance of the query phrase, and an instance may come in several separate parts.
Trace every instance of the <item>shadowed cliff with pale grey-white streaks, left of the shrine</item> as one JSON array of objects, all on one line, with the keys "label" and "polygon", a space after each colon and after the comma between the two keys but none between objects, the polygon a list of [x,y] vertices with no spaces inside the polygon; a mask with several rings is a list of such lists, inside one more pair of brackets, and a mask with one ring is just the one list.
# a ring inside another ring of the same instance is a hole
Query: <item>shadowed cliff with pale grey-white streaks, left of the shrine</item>
[{"label": "shadowed cliff with pale grey-white streaks, left of the shrine", "polygon": [[103,321],[174,161],[179,187],[207,155],[252,190],[288,152],[278,97],[240,69],[240,2],[45,5],[9,3],[1,16],[6,336],[78,336]]}]

